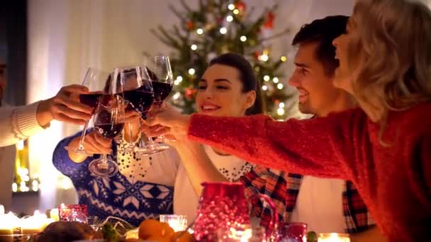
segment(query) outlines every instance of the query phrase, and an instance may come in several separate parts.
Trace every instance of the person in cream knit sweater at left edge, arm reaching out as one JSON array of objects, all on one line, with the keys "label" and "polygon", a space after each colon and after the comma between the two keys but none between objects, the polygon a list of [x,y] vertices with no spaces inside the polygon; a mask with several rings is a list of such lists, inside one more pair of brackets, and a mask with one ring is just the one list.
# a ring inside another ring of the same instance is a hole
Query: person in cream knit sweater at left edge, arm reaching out
[{"label": "person in cream knit sweater at left edge, arm reaching out", "polygon": [[47,100],[13,107],[2,102],[6,83],[6,64],[0,59],[0,204],[8,209],[12,202],[14,144],[49,127],[54,119],[82,125],[91,117],[91,108],[79,103],[79,93],[88,90],[78,85],[65,86]]}]

